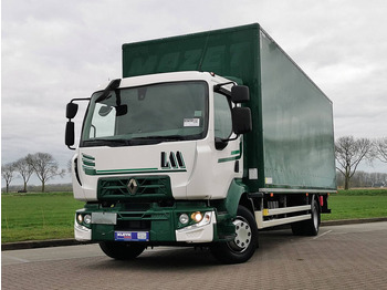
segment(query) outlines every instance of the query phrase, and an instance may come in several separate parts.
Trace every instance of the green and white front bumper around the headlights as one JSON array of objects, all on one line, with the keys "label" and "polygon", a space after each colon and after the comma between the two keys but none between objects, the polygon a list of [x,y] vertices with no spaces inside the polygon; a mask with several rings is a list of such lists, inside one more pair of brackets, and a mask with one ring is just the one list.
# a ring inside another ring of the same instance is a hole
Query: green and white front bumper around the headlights
[{"label": "green and white front bumper around the headlights", "polygon": [[[178,221],[181,213],[201,211],[203,219],[197,224],[182,226]],[[91,215],[91,225],[80,225],[76,215]],[[215,209],[190,208],[190,209],[170,209],[148,210],[145,213],[105,213],[109,216],[106,220],[101,219],[100,210],[91,211],[81,209],[75,215],[74,234],[75,239],[80,241],[95,240],[115,240],[115,232],[119,231],[147,231],[149,239],[142,241],[148,245],[175,245],[175,244],[203,244],[218,240],[217,237],[217,216]],[[115,215],[116,220],[112,221],[111,216]],[[95,218],[97,217],[97,218]],[[136,227],[133,227],[136,226]]]}]

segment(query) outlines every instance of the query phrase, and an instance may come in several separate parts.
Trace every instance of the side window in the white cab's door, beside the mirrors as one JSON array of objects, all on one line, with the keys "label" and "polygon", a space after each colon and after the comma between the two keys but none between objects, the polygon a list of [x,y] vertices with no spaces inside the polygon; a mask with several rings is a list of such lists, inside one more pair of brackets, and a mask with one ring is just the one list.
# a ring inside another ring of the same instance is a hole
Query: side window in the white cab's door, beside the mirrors
[{"label": "side window in the white cab's door, beside the mirrors", "polygon": [[226,95],[213,94],[215,137],[227,139],[232,133],[231,107]]}]

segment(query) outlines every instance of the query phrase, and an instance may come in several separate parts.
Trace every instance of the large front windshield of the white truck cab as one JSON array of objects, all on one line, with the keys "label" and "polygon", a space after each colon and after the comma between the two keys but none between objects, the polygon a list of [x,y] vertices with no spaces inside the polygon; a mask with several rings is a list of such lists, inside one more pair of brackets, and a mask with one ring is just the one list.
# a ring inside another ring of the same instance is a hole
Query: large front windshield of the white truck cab
[{"label": "large front windshield of the white truck cab", "polygon": [[81,146],[125,146],[203,138],[206,82],[176,82],[93,94]]}]

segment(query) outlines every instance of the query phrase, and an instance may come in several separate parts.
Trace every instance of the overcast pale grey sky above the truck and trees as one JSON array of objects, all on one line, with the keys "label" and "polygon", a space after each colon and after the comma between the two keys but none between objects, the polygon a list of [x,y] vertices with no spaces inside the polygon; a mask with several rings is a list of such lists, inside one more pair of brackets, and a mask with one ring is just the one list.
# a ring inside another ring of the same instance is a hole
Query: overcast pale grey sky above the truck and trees
[{"label": "overcast pale grey sky above the truck and trees", "polygon": [[44,152],[66,168],[65,105],[122,77],[123,43],[254,22],[333,101],[336,138],[387,136],[386,14],[385,0],[2,0],[1,164]]}]

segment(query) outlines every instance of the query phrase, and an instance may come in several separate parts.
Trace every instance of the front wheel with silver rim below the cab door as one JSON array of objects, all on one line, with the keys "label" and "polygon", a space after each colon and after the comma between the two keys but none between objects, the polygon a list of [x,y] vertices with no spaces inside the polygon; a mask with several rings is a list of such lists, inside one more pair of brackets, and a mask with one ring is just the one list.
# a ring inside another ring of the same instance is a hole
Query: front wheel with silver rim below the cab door
[{"label": "front wheel with silver rim below the cab door", "polygon": [[258,228],[251,211],[243,206],[238,206],[236,225],[236,238],[227,242],[218,242],[211,246],[212,255],[223,263],[240,263],[249,260],[258,247]]}]

